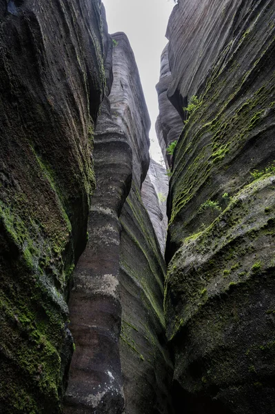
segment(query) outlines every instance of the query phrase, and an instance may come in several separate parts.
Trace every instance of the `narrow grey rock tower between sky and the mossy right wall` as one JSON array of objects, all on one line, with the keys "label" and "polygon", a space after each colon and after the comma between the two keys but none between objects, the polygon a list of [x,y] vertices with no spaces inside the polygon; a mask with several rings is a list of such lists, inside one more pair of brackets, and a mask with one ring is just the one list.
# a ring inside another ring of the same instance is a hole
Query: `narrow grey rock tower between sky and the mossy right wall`
[{"label": "narrow grey rock tower between sky and the mossy right wall", "polygon": [[[161,146],[163,159],[167,168],[171,167],[172,156],[167,154],[166,148],[179,139],[183,130],[183,120],[167,97],[167,90],[171,83],[171,72],[168,60],[168,45],[161,55],[161,76],[156,85],[159,97],[159,117],[156,119],[156,135]],[[183,112],[181,111],[181,115]]]}]

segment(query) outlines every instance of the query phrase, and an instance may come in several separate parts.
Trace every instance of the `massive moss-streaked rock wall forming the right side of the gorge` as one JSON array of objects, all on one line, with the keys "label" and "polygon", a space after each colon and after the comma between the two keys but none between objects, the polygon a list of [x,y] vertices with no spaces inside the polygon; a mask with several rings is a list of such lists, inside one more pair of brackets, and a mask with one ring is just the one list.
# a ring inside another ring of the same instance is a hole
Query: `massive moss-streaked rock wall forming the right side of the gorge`
[{"label": "massive moss-streaked rock wall forming the right side of the gorge", "polygon": [[168,96],[198,97],[170,180],[179,413],[274,413],[274,18],[269,0],[180,0],[167,29]]}]

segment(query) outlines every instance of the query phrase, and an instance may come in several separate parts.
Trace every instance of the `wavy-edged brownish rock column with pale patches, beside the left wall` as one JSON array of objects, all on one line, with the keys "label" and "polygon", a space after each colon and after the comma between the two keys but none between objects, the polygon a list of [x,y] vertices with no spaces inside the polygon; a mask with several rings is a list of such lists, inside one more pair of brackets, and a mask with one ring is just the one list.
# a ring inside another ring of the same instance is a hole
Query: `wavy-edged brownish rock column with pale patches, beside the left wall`
[{"label": "wavy-edged brownish rock column with pale patches, beside the left wall", "polygon": [[[105,72],[111,79],[113,43],[105,25],[106,38]],[[118,344],[119,215],[130,190],[132,150],[110,113],[109,88],[107,83],[94,135],[96,191],[90,210],[89,240],[74,272],[69,302],[76,351],[70,366],[65,413],[119,414],[124,407]]]}]

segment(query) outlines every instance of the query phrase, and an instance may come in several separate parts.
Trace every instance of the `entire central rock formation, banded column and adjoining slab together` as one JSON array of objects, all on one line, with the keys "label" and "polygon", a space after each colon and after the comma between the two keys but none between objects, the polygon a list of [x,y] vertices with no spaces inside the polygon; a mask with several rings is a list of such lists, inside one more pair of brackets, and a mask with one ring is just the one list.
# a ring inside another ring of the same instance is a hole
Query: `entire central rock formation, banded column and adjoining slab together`
[{"label": "entire central rock formation, banded column and adjoining slab together", "polygon": [[94,137],[97,186],[89,241],[69,303],[76,351],[65,413],[120,414],[124,406],[128,414],[168,413],[165,263],[140,190],[149,164],[150,119],[129,41],[123,33],[112,41],[104,27],[108,81]]}]

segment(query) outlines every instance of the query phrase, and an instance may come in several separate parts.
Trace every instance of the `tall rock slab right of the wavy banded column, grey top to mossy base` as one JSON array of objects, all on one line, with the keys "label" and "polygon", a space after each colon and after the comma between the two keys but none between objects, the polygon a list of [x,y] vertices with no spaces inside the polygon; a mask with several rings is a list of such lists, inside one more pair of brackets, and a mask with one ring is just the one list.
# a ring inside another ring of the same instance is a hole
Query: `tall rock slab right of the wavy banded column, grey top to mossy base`
[{"label": "tall rock slab right of the wavy banded column, grey top to mossy base", "polygon": [[172,364],[163,315],[165,263],[141,200],[141,184],[150,161],[150,119],[128,39],[123,33],[112,37],[117,46],[113,49],[111,112],[125,132],[133,159],[132,187],[120,216],[120,356],[125,413],[172,413]]}]

